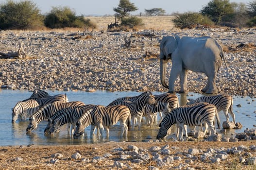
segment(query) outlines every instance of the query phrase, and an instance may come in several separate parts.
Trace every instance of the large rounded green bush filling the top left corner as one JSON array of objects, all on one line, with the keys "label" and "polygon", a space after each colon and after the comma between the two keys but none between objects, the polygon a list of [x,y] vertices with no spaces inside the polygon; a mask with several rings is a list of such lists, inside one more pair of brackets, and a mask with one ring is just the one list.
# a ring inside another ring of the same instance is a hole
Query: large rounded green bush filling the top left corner
[{"label": "large rounded green bush filling the top left corner", "polygon": [[43,16],[30,0],[8,0],[0,5],[0,29],[36,29],[43,26]]}]

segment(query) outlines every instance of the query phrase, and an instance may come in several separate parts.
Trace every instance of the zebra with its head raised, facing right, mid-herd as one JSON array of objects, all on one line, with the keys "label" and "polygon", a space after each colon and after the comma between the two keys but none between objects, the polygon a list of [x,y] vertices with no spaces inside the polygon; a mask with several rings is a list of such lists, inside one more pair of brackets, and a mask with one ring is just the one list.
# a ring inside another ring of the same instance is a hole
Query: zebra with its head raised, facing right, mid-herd
[{"label": "zebra with its head raised, facing right, mid-herd", "polygon": [[156,105],[157,102],[155,101],[154,95],[152,94],[152,92],[146,91],[140,94],[139,96],[137,96],[136,98],[134,98],[132,102],[123,101],[123,102],[120,102],[119,104],[125,105],[130,109],[132,122],[133,122],[132,130],[134,130],[136,120],[138,122],[138,130],[140,130],[140,123],[141,123],[141,119],[142,119],[143,112],[146,105],[147,104]]}]

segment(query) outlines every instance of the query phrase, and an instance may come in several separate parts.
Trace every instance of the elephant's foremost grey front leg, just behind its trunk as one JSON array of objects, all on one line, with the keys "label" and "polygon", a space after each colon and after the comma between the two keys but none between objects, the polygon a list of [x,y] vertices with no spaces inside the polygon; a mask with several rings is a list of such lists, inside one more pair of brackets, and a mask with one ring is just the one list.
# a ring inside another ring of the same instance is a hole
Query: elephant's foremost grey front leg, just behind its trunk
[{"label": "elephant's foremost grey front leg, just behind its trunk", "polygon": [[182,64],[172,62],[171,74],[169,78],[169,91],[168,93],[175,93],[174,83],[182,70]]}]

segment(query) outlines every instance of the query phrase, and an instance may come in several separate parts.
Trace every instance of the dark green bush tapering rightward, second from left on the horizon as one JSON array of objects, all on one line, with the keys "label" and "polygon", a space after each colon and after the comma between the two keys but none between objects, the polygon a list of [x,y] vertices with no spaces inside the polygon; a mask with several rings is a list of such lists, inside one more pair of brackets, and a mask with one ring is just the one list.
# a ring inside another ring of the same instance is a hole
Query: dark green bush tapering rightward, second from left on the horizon
[{"label": "dark green bush tapering rightward, second from left on the horizon", "polygon": [[50,13],[45,17],[45,26],[49,28],[92,28],[96,25],[90,19],[85,19],[84,16],[76,16],[69,7],[52,7]]}]

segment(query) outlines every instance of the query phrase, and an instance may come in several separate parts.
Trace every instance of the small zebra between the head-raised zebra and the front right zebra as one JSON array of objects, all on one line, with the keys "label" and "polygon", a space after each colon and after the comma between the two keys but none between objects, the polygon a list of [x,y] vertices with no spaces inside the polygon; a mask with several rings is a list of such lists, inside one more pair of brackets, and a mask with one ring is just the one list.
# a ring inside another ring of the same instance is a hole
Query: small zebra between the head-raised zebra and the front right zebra
[{"label": "small zebra between the head-raised zebra and the front right zebra", "polygon": [[154,118],[157,117],[157,112],[163,112],[164,115],[167,115],[169,112],[171,112],[171,109],[169,107],[169,102],[157,102],[157,105],[153,104],[147,104],[144,110],[143,116],[145,116],[148,120],[148,125],[150,127],[153,127]]}]

